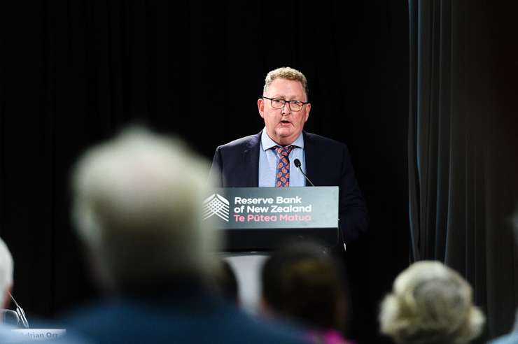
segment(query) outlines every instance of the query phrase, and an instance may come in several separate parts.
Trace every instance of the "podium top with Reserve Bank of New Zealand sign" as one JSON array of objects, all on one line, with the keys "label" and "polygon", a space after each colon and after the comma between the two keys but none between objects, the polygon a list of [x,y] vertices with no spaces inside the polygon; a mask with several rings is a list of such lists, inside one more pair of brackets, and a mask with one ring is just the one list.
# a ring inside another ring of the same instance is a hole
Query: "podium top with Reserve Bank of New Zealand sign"
[{"label": "podium top with Reserve Bank of New Zealand sign", "polygon": [[338,187],[228,187],[204,200],[228,250],[272,250],[293,238],[337,242]]}]

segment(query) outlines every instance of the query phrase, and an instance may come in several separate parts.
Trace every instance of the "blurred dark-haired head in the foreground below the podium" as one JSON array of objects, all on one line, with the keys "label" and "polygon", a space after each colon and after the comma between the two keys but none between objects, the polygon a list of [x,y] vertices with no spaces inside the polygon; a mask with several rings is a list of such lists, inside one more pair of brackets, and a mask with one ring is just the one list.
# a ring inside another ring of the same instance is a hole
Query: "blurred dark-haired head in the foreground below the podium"
[{"label": "blurred dark-haired head in the foreground below the podium", "polygon": [[266,313],[288,317],[310,329],[343,328],[344,281],[320,245],[294,243],[276,252],[262,267],[261,282]]}]

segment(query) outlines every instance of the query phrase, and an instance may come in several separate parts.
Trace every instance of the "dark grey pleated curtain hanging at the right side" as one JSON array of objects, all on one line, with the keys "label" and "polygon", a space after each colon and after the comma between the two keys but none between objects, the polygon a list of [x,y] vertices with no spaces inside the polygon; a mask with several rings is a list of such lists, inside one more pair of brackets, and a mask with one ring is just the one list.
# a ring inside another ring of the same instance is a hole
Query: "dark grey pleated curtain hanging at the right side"
[{"label": "dark grey pleated curtain hanging at the right side", "polygon": [[487,316],[479,343],[510,331],[518,304],[517,7],[409,1],[412,257],[471,283]]}]

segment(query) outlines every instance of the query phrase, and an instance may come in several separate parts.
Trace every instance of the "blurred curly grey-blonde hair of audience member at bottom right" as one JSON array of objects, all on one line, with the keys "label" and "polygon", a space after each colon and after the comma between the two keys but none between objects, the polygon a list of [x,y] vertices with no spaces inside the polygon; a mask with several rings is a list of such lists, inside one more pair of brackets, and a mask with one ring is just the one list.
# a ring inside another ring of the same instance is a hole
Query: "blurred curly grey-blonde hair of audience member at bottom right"
[{"label": "blurred curly grey-blonde hair of audience member at bottom right", "polygon": [[439,261],[419,261],[398,275],[381,303],[381,332],[396,343],[468,343],[484,315],[468,282]]}]

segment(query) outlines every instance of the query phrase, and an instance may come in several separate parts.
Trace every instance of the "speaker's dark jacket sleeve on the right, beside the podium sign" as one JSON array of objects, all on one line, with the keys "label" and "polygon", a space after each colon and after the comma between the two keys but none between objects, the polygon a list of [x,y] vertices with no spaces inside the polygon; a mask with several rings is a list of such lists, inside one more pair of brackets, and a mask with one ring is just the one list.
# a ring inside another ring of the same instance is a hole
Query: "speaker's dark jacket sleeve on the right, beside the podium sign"
[{"label": "speaker's dark jacket sleeve on the right, beside the podium sign", "polygon": [[339,226],[349,243],[367,231],[367,207],[354,175],[349,150],[344,146],[340,182]]}]

